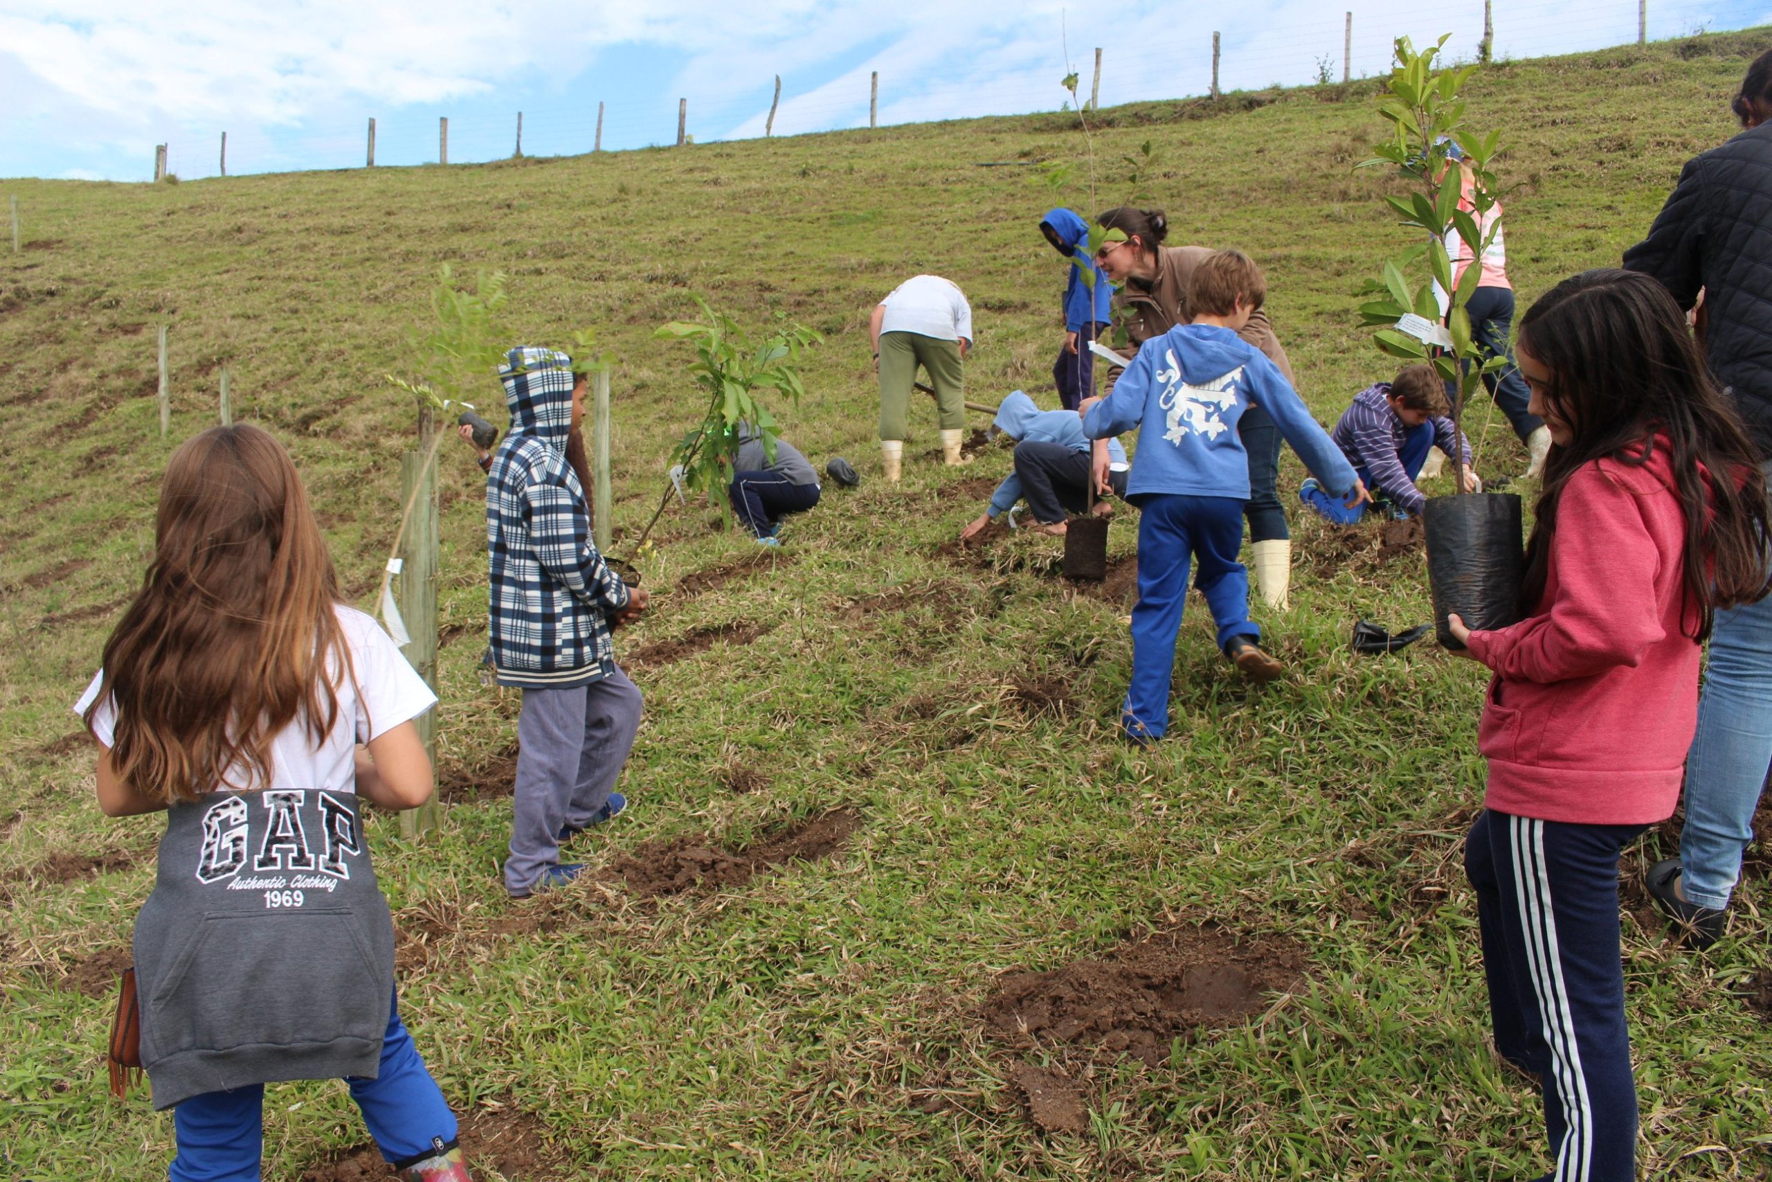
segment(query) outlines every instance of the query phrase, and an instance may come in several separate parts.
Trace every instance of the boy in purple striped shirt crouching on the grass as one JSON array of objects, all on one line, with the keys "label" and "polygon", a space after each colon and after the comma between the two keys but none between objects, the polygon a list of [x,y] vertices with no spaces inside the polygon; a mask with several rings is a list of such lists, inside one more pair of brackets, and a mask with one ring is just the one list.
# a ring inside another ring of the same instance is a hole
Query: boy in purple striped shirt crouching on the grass
[{"label": "boy in purple striped shirt crouching on the grass", "polygon": [[[1428,498],[1416,487],[1416,477],[1435,445],[1448,455],[1458,454],[1469,491],[1483,491],[1471,468],[1469,441],[1446,418],[1446,386],[1432,365],[1409,365],[1396,381],[1356,393],[1329,438],[1372,489],[1373,505],[1387,503],[1396,516],[1421,514]],[[1354,525],[1366,514],[1366,505],[1347,509],[1343,498],[1329,496],[1317,480],[1304,482],[1299,500],[1336,525]]]}]

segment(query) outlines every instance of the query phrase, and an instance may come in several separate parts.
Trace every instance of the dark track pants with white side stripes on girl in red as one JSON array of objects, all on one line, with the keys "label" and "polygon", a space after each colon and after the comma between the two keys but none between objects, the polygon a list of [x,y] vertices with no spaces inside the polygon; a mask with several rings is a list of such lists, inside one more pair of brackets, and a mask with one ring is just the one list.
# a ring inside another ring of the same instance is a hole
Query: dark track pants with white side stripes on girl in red
[{"label": "dark track pants with white side stripes on girl in red", "polygon": [[1646,828],[1485,810],[1465,840],[1496,1049],[1543,1083],[1554,1182],[1636,1178],[1618,854]]}]

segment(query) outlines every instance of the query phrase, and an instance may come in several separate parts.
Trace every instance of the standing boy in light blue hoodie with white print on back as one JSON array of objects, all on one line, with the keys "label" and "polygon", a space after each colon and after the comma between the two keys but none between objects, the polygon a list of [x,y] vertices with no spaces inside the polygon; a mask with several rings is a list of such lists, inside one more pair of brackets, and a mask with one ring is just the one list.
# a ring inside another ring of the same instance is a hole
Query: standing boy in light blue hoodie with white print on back
[{"label": "standing boy in light blue hoodie with white print on back", "polygon": [[1224,656],[1256,682],[1285,672],[1256,643],[1262,629],[1249,620],[1249,576],[1237,562],[1249,500],[1249,461],[1237,432],[1244,409],[1262,406],[1322,487],[1348,505],[1368,500],[1341,448],[1279,369],[1237,337],[1265,298],[1262,269],[1246,253],[1207,255],[1187,289],[1193,323],[1146,340],[1106,399],[1083,402],[1083,434],[1092,439],[1145,422],[1162,427],[1148,439],[1139,432],[1127,480],[1127,500],[1139,507],[1138,606],[1120,725],[1132,743],[1152,743],[1170,728],[1170,673],[1191,558]]}]

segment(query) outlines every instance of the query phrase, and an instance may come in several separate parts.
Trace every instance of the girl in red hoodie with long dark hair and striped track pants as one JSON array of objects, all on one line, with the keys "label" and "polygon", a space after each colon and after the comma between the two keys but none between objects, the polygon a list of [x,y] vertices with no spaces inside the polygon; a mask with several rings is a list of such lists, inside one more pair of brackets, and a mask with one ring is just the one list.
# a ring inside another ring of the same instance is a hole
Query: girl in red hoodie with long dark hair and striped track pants
[{"label": "girl in red hoodie with long dark hair and striped track pants", "polygon": [[1519,624],[1453,634],[1494,670],[1465,844],[1496,1049],[1536,1074],[1556,1182],[1636,1177],[1618,856],[1673,815],[1715,608],[1767,590],[1767,489],[1655,280],[1586,271],[1520,321],[1552,448]]}]

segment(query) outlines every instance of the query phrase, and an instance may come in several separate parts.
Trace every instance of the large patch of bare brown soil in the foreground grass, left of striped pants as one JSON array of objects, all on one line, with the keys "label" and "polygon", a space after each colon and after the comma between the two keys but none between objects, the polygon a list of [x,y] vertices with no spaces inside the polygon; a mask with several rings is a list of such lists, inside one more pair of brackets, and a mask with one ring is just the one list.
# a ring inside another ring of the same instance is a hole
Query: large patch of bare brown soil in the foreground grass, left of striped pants
[{"label": "large patch of bare brown soil in the foreground grass, left of striped pants", "polygon": [[1290,939],[1239,943],[1216,925],[1184,927],[1051,973],[1012,969],[982,1017],[1015,1047],[1072,1042],[1155,1067],[1177,1038],[1260,1014],[1302,976],[1304,950]]}]

